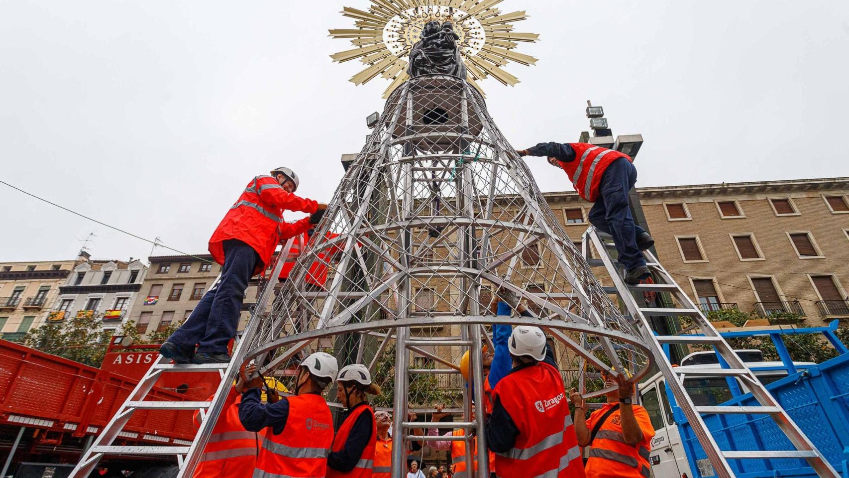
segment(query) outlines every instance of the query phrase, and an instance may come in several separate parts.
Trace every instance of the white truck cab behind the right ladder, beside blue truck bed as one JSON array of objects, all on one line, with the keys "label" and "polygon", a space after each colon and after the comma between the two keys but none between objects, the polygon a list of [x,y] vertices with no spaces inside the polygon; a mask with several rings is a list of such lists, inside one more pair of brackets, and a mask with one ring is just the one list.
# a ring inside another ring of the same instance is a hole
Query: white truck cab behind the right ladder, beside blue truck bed
[{"label": "white truck cab behind the right ladder, beside blue truck bed", "polygon": [[[763,362],[762,352],[759,350],[739,350],[737,354],[743,359],[746,366],[751,368],[758,380],[764,385],[770,384],[787,376],[787,368],[781,362]],[[796,368],[808,368],[815,363],[794,362]],[[699,371],[706,368],[720,368],[717,363],[717,355],[713,351],[697,351],[684,357],[678,370],[690,372],[684,377],[684,387],[689,391],[696,406],[715,406],[732,398],[728,391],[726,379],[722,377],[700,376]],[[739,383],[740,390],[744,393],[748,389]],[[690,464],[687,453],[675,425],[672,416],[672,408],[666,395],[666,379],[661,373],[657,373],[649,380],[639,385],[640,404],[649,413],[651,425],[655,427],[655,437],[651,441],[651,453],[649,463],[655,477],[683,477],[691,476]],[[711,464],[697,464],[703,476],[711,476]]]}]

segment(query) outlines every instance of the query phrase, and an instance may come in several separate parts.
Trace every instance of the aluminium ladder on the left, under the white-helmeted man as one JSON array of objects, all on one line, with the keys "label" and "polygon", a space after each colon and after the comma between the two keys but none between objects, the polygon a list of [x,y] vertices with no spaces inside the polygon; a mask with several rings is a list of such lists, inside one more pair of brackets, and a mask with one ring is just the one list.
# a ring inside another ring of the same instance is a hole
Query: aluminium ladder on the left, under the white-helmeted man
[{"label": "aluminium ladder on the left, under the white-helmeted man", "polygon": [[[239,339],[239,343],[233,349],[233,358],[230,363],[200,363],[200,364],[176,364],[171,363],[170,359],[157,357],[155,362],[150,366],[147,373],[144,374],[141,380],[138,380],[136,388],[127,396],[125,402],[115,412],[115,415],[110,419],[109,423],[100,432],[98,437],[93,441],[92,446],[82,453],[79,463],[70,474],[70,478],[86,478],[98,465],[101,458],[108,455],[121,456],[171,456],[177,458],[177,466],[180,471],[176,478],[184,478],[191,476],[194,473],[194,467],[200,462],[200,455],[203,453],[206,442],[212,434],[212,428],[215,426],[219,414],[224,408],[224,401],[227,398],[230,387],[233,386],[233,380],[236,379],[236,374],[239,372],[245,353],[247,352],[246,344],[250,343],[250,339],[256,334],[256,330],[261,322],[262,313],[265,310],[268,298],[274,290],[275,280],[283,269],[284,262],[288,251],[291,250],[295,238],[289,239],[281,249],[277,261],[274,263],[273,273],[269,276],[269,280],[262,287],[259,297],[257,297],[256,305],[250,313],[245,330]],[[218,278],[221,278],[219,275]],[[213,290],[216,282],[210,288]],[[162,374],[180,374],[192,372],[213,372],[217,371],[221,375],[221,383],[216,389],[215,395],[209,402],[160,402],[160,401],[145,401],[150,390],[154,387],[157,380]],[[132,419],[133,413],[136,410],[198,410],[200,411],[200,428],[194,436],[194,440],[188,446],[114,446],[112,443],[121,434],[121,430],[127,422]]]}]

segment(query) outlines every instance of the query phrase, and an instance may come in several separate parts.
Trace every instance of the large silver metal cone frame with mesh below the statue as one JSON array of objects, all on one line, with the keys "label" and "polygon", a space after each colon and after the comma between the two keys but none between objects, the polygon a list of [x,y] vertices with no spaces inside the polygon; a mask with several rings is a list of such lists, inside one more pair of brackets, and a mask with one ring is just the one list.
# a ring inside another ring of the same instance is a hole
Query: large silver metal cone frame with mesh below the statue
[{"label": "large silver metal cone frame with mesh below the statue", "polygon": [[[499,288],[536,317],[494,315]],[[310,351],[368,365],[384,391],[374,405],[394,408],[395,467],[407,449],[398,440],[416,428],[406,412],[436,404],[465,414],[450,426],[477,429],[483,456],[483,413],[475,421],[470,411],[482,408],[481,346],[493,323],[545,329],[567,388],[586,364],[634,381],[651,364],[481,93],[453,76],[413,78],[386,102],[246,360],[284,381]],[[472,387],[456,365],[464,351]]]}]

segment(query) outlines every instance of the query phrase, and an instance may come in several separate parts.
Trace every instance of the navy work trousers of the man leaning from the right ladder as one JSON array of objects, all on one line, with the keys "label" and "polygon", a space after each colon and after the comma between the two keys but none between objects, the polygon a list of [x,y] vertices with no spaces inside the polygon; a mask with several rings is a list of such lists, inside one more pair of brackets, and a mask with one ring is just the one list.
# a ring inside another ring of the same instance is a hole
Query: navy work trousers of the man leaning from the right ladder
[{"label": "navy work trousers of the man leaning from the right ladder", "polygon": [[644,266],[645,258],[637,247],[637,236],[645,229],[634,223],[628,207],[628,192],[637,183],[637,168],[618,158],[607,166],[599,185],[599,197],[589,210],[589,222],[599,231],[613,236],[619,261],[627,268]]}]

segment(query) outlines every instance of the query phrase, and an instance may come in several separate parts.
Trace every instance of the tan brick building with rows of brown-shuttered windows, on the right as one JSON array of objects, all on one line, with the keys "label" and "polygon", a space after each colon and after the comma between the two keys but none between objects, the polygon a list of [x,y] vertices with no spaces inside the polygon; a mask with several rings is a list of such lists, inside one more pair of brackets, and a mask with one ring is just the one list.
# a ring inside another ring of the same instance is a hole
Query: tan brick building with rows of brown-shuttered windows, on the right
[{"label": "tan brick building with rows of brown-shuttered windows, on the right", "polygon": [[[796,312],[808,325],[849,318],[849,177],[638,194],[661,263],[704,310]],[[580,241],[592,204],[572,192],[545,196]]]}]

